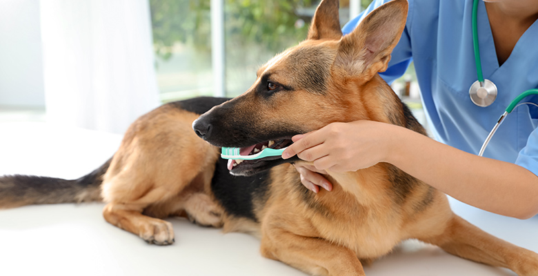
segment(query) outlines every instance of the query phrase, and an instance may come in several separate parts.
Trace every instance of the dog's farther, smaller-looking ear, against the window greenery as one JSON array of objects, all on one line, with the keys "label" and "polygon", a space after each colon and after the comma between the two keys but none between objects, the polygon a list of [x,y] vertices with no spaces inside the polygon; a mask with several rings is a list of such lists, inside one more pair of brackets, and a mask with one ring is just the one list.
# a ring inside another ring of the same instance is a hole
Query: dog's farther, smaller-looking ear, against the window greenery
[{"label": "dog's farther, smaller-looking ear, against the window greenery", "polygon": [[339,0],[322,0],[317,6],[307,39],[335,39],[342,37],[338,15]]}]

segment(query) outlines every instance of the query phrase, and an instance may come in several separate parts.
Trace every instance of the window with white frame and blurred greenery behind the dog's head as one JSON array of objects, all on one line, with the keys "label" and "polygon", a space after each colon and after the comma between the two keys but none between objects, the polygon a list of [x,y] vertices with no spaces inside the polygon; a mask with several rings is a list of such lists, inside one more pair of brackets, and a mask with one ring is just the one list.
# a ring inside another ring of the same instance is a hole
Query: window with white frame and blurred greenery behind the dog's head
[{"label": "window with white frame and blurred greenery behind the dog's head", "polygon": [[[350,14],[358,14],[370,2],[341,1],[342,25]],[[259,66],[306,38],[318,3],[150,0],[161,99],[166,102],[200,95],[241,94],[255,81]],[[212,26],[212,20],[224,22],[223,26]],[[217,32],[223,34],[221,43],[212,41]],[[219,51],[222,57],[215,55]],[[219,81],[221,86],[216,83]]]}]

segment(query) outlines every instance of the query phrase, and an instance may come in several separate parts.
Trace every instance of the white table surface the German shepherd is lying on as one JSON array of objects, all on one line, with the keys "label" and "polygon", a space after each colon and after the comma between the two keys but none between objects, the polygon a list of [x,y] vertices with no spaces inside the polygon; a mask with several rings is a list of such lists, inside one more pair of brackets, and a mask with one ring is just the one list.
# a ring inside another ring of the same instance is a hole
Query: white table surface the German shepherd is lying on
[{"label": "white table surface the German shepherd is lying on", "polygon": [[[0,175],[67,179],[111,157],[121,135],[47,123],[0,123]],[[538,252],[538,217],[502,217],[450,199],[452,209],[497,237]],[[0,210],[1,275],[305,275],[259,254],[259,240],[223,234],[170,218],[175,244],[155,246],[103,219],[104,204],[58,204]],[[448,255],[435,246],[403,242],[365,267],[366,275],[515,275]]]}]

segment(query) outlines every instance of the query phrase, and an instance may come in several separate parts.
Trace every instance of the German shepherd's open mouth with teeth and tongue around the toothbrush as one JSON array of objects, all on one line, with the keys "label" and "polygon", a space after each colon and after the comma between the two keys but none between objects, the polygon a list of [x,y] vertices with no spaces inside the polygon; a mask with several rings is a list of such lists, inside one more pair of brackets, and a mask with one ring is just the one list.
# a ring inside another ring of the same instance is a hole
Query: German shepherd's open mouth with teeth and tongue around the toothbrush
[{"label": "German shepherd's open mouth with teeth and tongue around the toothbrush", "polygon": [[[244,156],[255,155],[265,148],[273,148],[273,149],[286,148],[287,146],[290,146],[291,144],[293,144],[293,141],[291,139],[277,139],[277,140],[264,141],[259,144],[241,148],[239,154],[244,155]],[[254,160],[228,159],[228,170],[235,170],[236,168],[249,167],[261,161],[270,161],[270,160],[275,160],[275,159],[281,159],[281,157],[272,156],[272,157],[263,157],[261,159],[254,159]]]}]

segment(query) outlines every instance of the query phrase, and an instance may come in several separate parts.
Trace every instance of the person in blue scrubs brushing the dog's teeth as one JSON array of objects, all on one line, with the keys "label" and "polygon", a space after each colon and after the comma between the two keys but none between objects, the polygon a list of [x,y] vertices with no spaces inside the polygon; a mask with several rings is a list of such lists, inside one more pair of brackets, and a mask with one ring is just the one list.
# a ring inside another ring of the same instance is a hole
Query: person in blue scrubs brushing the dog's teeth
[{"label": "person in blue scrubs brushing the dog's teeth", "polygon": [[[344,26],[344,34],[386,2],[375,0]],[[484,78],[499,90],[491,106],[476,106],[468,92],[477,80],[472,0],[409,0],[406,28],[380,75],[390,83],[414,61],[437,141],[375,121],[330,124],[294,137],[295,144],[283,152],[283,158],[313,161],[314,166],[296,166],[303,185],[315,193],[319,186],[331,190],[317,172],[353,171],[383,161],[472,206],[521,219],[536,215],[538,108],[516,108],[484,157],[477,153],[510,101],[538,88],[538,0],[479,1],[477,14]],[[538,103],[538,97],[524,101]]]}]

